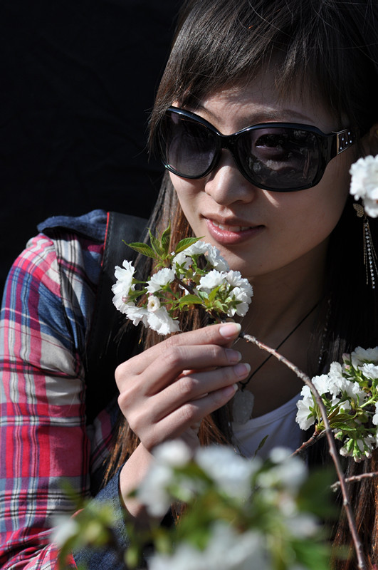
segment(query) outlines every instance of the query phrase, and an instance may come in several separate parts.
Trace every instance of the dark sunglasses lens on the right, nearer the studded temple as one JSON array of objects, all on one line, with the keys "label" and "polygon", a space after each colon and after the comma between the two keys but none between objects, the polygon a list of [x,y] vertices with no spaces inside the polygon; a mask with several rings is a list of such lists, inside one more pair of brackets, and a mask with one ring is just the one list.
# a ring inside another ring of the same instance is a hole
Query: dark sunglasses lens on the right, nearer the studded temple
[{"label": "dark sunglasses lens on the right, nearer the studded temple", "polygon": [[295,190],[313,183],[320,163],[316,135],[295,128],[256,128],[241,133],[238,155],[255,185]]}]

